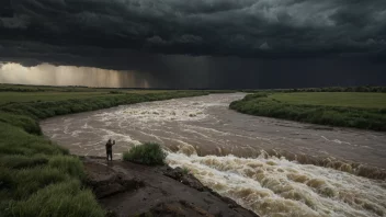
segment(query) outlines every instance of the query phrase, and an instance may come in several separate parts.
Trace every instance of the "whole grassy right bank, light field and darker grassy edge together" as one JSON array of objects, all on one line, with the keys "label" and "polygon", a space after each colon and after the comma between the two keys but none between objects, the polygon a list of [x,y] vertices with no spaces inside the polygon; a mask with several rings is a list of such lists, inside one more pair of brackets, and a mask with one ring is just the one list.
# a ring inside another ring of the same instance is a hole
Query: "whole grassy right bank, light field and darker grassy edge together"
[{"label": "whole grassy right bank, light field and darker grassy edge together", "polygon": [[386,130],[385,101],[386,93],[256,93],[229,107],[257,116]]}]

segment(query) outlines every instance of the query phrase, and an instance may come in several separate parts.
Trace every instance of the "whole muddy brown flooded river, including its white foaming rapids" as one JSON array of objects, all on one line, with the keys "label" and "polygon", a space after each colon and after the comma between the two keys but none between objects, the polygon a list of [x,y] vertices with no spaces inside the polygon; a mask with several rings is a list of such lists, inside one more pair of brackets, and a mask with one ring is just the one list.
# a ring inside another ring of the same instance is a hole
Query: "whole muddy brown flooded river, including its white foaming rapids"
[{"label": "whole muddy brown flooded river, including its white foaming rapids", "polygon": [[228,108],[243,96],[123,105],[49,118],[41,126],[52,140],[80,156],[105,156],[109,138],[117,142],[114,158],[156,141],[169,151],[170,165],[188,168],[205,185],[261,216],[386,215],[385,133]]}]

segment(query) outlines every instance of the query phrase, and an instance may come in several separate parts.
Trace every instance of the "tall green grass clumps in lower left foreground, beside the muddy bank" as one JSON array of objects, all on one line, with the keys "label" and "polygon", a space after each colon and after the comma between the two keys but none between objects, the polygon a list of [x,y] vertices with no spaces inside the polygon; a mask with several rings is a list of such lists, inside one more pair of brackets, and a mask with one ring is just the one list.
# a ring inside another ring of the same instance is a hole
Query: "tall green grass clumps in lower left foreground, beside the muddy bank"
[{"label": "tall green grass clumps in lower left foreground, beside the muddy bank", "polygon": [[[84,172],[78,158],[7,123],[0,122],[0,216],[104,216],[79,184]],[[73,181],[70,195],[63,186]]]}]

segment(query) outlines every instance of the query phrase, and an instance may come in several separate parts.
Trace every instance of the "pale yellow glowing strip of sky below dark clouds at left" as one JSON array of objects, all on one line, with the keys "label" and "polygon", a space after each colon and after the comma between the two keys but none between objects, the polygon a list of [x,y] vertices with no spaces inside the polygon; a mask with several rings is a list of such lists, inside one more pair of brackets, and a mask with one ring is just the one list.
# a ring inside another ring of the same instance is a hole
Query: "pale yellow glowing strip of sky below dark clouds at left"
[{"label": "pale yellow glowing strip of sky below dark clouds at left", "polygon": [[151,88],[151,76],[137,71],[117,71],[94,67],[41,64],[25,67],[0,62],[0,83],[36,85],[84,85],[94,88]]}]

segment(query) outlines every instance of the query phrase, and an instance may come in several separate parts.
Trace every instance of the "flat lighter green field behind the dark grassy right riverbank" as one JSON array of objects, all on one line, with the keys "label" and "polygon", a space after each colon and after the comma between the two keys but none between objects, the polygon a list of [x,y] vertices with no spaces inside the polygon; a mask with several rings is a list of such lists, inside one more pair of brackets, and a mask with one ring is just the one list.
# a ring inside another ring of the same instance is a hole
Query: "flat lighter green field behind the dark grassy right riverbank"
[{"label": "flat lighter green field behind the dark grassy right riverbank", "polygon": [[385,93],[359,92],[316,92],[316,93],[277,93],[269,95],[281,102],[306,105],[327,105],[340,107],[386,108]]}]

